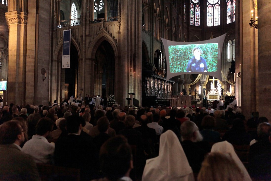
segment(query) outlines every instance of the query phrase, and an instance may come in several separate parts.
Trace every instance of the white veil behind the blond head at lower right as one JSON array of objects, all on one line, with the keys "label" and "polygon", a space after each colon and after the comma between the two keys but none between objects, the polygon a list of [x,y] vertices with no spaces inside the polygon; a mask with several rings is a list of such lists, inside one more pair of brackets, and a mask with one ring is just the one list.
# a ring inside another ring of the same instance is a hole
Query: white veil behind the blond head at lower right
[{"label": "white veil behind the blond head at lower right", "polygon": [[247,169],[245,168],[244,164],[241,162],[241,160],[238,158],[237,154],[234,151],[233,145],[227,141],[222,141],[215,143],[212,146],[211,152],[222,152],[222,153],[230,153],[231,157],[235,161],[235,163],[238,165],[238,167],[241,169],[241,171],[244,174],[244,181],[251,181],[251,178],[249,176],[249,173],[247,172]]}]

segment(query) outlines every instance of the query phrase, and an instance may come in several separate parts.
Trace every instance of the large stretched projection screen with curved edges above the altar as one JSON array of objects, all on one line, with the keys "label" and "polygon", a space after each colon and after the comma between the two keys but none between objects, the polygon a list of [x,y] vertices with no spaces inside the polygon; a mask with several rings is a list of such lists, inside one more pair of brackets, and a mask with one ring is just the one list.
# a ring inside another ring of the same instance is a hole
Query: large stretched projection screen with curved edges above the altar
[{"label": "large stretched projection screen with curved edges above the altar", "polygon": [[205,74],[221,79],[221,52],[226,33],[199,42],[162,39],[167,62],[167,80],[182,74]]}]

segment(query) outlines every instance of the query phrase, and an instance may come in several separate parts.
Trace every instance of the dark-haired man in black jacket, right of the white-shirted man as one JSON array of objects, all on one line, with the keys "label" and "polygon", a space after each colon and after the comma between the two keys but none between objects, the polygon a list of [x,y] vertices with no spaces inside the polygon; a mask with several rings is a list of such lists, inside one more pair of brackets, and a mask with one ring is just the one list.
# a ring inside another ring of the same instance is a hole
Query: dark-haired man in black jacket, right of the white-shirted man
[{"label": "dark-haired man in black jacket, right of the white-shirted man", "polygon": [[76,115],[66,120],[68,135],[60,137],[55,145],[55,164],[80,168],[82,180],[91,180],[97,169],[97,152],[91,137],[82,132],[81,118]]}]

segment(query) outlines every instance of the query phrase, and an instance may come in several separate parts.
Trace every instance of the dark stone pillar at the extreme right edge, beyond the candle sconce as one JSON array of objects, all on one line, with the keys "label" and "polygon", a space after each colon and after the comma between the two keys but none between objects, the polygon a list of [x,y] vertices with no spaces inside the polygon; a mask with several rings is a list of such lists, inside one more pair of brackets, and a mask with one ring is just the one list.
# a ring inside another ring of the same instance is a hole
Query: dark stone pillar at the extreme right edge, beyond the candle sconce
[{"label": "dark stone pillar at the extreme right edge, beyond the candle sconce", "polygon": [[270,87],[270,77],[271,77],[271,49],[266,46],[271,44],[270,29],[270,8],[271,1],[258,0],[258,59],[259,59],[259,103],[260,104],[259,115],[267,117],[271,120],[270,106],[267,104],[271,101],[271,87]]}]

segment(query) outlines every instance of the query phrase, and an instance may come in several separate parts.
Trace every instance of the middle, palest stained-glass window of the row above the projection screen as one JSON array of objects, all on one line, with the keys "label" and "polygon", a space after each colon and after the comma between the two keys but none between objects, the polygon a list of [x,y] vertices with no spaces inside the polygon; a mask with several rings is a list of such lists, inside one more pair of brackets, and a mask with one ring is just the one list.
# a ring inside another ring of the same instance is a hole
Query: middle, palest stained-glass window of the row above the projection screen
[{"label": "middle, palest stained-glass window of the row above the projection screen", "polygon": [[220,0],[207,1],[207,26],[220,25]]}]

